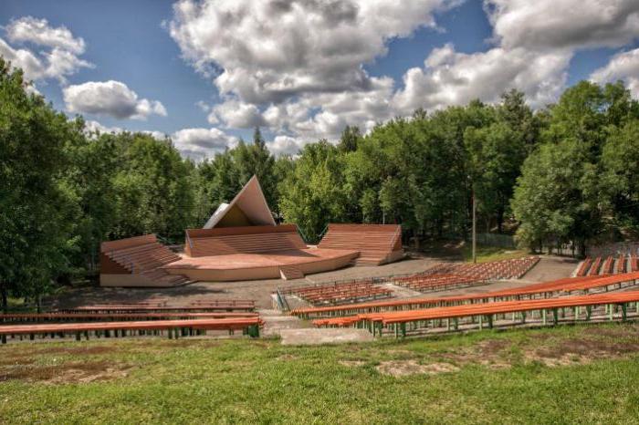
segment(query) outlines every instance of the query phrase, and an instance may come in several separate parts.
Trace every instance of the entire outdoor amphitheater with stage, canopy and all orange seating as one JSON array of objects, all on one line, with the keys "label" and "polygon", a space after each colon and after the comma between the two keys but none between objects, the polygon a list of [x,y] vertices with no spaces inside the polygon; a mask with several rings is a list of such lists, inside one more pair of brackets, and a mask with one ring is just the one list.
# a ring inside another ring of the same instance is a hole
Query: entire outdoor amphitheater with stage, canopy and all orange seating
[{"label": "entire outdoor amphitheater with stage, canopy and all orange seating", "polygon": [[309,245],[276,224],[257,178],[178,246],[106,241],[100,287],[5,314],[2,343],[92,337],[367,341],[639,316],[637,253],[484,263],[404,252],[397,224],[330,223]]}]

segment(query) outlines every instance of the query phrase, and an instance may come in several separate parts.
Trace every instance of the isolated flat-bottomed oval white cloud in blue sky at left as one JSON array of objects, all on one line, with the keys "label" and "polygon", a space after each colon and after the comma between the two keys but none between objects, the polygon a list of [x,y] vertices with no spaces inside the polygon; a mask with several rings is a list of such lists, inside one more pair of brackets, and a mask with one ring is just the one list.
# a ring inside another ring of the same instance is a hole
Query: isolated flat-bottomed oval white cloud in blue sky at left
[{"label": "isolated flat-bottomed oval white cloud in blue sky at left", "polygon": [[69,112],[108,115],[116,119],[146,119],[150,115],[166,116],[158,100],[138,98],[120,81],[89,81],[63,88],[62,95]]}]

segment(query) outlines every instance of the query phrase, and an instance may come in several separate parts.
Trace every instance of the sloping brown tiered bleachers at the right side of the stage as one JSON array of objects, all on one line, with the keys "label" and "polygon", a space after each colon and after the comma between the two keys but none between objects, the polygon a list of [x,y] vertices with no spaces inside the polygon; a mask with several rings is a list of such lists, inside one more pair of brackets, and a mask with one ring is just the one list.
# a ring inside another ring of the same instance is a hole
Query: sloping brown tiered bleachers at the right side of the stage
[{"label": "sloping brown tiered bleachers at the right side of the stage", "polygon": [[396,224],[329,224],[319,248],[359,251],[355,265],[392,263],[403,256],[402,226]]}]

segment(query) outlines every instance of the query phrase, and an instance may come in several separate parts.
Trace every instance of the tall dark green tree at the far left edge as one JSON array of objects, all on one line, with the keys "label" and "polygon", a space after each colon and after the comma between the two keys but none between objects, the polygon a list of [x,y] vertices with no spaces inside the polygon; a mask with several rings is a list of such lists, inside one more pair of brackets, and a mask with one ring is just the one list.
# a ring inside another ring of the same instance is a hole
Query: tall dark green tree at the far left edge
[{"label": "tall dark green tree at the far left edge", "polygon": [[65,140],[79,137],[64,114],[29,93],[21,70],[0,58],[0,294],[35,296],[67,267],[74,199],[56,178]]}]

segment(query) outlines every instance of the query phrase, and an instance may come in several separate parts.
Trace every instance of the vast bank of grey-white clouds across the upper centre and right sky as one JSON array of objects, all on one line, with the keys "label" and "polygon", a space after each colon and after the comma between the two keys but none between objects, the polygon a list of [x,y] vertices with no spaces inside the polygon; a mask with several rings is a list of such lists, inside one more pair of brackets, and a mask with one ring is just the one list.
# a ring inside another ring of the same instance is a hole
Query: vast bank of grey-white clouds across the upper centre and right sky
[{"label": "vast bank of grey-white clouds across the upper centre and right sky", "polygon": [[[509,88],[542,107],[565,88],[575,51],[619,47],[639,36],[636,0],[484,0],[493,26],[486,51],[435,48],[401,81],[365,71],[386,55],[389,40],[420,27],[439,29],[434,14],[460,3],[182,0],[168,29],[184,59],[223,98],[200,105],[208,121],[266,127],[276,136],[269,148],[278,153],[294,153],[302,140],[337,140],[346,125],[368,131],[417,108],[497,101]],[[634,84],[631,71],[623,72],[601,70]]]}]

